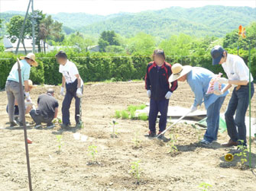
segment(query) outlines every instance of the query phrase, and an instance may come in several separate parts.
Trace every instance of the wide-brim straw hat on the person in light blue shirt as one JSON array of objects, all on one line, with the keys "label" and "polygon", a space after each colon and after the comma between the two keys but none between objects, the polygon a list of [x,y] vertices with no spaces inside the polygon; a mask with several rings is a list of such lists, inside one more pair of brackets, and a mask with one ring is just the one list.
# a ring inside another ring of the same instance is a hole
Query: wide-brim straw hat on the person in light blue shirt
[{"label": "wide-brim straw hat on the person in light blue shirt", "polygon": [[190,65],[181,65],[179,63],[172,65],[171,70],[173,72],[170,75],[169,82],[176,81],[177,79],[183,77],[192,70],[192,66]]}]

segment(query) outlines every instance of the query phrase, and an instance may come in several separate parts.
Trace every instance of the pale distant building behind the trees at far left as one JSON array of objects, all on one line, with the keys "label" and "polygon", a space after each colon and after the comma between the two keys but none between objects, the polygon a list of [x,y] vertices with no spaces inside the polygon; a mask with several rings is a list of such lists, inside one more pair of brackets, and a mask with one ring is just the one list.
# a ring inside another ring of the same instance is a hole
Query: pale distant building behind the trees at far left
[{"label": "pale distant building behind the trees at far left", "polygon": [[[3,38],[3,43],[4,43],[4,46],[5,46],[5,52],[6,53],[15,53],[16,48],[18,46],[18,39],[16,40],[15,43],[11,43],[11,40],[8,38],[8,36],[5,36]],[[40,43],[41,43],[41,51],[43,52],[44,51],[44,41],[41,40]],[[24,45],[25,45],[25,48],[27,50],[27,53],[32,53],[33,40],[32,39],[24,39]],[[46,52],[50,51],[50,45],[48,43],[45,43],[45,50],[46,50]],[[38,53],[37,45],[35,45],[35,52]],[[25,54],[25,50],[24,50],[24,47],[23,47],[22,43],[20,43],[20,45],[18,47],[18,53]]]}]

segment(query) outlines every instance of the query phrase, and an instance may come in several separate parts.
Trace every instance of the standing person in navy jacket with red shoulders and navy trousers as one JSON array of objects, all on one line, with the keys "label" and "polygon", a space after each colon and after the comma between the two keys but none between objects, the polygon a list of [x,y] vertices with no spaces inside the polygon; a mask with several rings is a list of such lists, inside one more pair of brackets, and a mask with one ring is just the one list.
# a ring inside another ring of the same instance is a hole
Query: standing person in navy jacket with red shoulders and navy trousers
[{"label": "standing person in navy jacket with red shoulders and navy trousers", "polygon": [[[165,62],[164,50],[155,49],[153,59],[154,62],[150,62],[147,65],[147,72],[145,75],[147,97],[151,99],[148,116],[150,131],[146,136],[151,138],[157,135],[156,120],[158,112],[160,112],[158,135],[166,129],[169,99],[173,94],[173,91],[178,87],[177,81],[173,81],[170,87],[168,78],[172,74],[171,65]],[[164,135],[160,135],[158,138],[164,138]]]}]

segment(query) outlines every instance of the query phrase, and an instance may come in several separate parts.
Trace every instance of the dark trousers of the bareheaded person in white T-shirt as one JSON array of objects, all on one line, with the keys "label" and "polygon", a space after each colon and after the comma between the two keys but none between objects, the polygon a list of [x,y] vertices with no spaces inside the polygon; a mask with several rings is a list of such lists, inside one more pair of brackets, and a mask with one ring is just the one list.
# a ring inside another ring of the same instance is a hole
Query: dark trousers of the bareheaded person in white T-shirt
[{"label": "dark trousers of the bareheaded person in white T-shirt", "polygon": [[[74,81],[71,84],[66,84],[66,95],[64,97],[63,103],[62,103],[62,121],[63,124],[69,124],[70,123],[70,105],[75,98],[75,119],[76,124],[79,123],[80,116],[82,113],[80,113],[80,101],[81,99],[79,97],[76,97],[76,90],[77,90],[77,80]],[[83,87],[82,87],[83,92]]]}]

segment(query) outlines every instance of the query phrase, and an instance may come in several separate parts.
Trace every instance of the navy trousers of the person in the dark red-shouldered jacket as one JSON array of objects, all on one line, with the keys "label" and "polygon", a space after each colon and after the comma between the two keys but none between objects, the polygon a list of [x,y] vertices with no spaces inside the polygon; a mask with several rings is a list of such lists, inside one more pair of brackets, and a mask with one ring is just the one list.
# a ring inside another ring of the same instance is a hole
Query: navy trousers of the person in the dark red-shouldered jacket
[{"label": "navy trousers of the person in the dark red-shouldered jacket", "polygon": [[154,100],[151,99],[150,110],[148,116],[149,129],[151,132],[156,132],[156,120],[158,112],[160,112],[159,131],[163,132],[167,126],[167,112],[169,100]]}]

